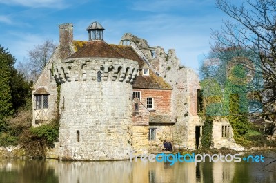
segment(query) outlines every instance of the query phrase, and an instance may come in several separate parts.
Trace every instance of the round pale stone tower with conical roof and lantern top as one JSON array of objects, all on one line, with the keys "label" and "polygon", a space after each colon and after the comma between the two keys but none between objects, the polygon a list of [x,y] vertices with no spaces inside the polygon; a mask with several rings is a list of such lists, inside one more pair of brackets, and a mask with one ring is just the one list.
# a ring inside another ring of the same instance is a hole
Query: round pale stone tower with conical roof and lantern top
[{"label": "round pale stone tower with conical roof and lantern top", "polygon": [[132,151],[132,85],[139,66],[103,41],[103,27],[88,27],[89,41],[54,63],[60,83],[59,158],[126,160]]}]

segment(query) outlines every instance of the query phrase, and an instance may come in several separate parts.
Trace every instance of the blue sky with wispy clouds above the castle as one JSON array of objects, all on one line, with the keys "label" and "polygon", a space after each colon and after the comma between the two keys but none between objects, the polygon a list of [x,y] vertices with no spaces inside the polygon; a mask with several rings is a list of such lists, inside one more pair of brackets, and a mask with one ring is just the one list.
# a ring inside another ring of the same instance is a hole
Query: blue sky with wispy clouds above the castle
[{"label": "blue sky with wispy clouds above the castle", "polygon": [[215,0],[0,0],[0,44],[24,61],[34,45],[59,42],[59,24],[73,23],[74,39],[86,41],[86,28],[99,21],[107,43],[130,32],[167,53],[175,48],[182,65],[197,69],[198,58],[210,50],[211,29],[219,30],[227,18]]}]

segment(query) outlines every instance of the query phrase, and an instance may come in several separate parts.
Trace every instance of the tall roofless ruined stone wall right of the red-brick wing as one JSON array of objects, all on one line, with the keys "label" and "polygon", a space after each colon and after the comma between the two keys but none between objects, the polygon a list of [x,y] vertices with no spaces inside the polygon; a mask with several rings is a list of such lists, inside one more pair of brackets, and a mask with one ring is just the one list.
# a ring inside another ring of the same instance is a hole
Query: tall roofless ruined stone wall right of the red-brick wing
[{"label": "tall roofless ruined stone wall right of the red-brick wing", "polygon": [[[172,119],[175,120],[173,142],[178,147],[195,149],[195,127],[203,123],[197,116],[197,89],[199,78],[187,67],[181,66],[174,49],[168,54],[161,47],[144,47],[144,56],[172,90]],[[154,52],[154,54],[152,54]]]}]

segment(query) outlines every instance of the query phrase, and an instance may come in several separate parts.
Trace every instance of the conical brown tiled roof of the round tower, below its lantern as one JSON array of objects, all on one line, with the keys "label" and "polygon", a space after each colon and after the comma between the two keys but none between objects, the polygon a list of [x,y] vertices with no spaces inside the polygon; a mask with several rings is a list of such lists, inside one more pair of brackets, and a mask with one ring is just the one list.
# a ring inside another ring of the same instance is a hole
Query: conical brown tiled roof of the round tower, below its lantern
[{"label": "conical brown tiled roof of the round tower, below its lantern", "polygon": [[68,58],[124,58],[104,41],[88,41]]}]

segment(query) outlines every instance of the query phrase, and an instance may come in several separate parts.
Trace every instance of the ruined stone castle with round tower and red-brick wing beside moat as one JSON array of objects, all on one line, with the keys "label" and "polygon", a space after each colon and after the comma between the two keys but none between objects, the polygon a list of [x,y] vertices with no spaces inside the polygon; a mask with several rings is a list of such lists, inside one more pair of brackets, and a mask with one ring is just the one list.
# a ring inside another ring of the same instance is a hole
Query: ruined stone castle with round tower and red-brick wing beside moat
[{"label": "ruined stone castle with round tower and red-brick wing beside moat", "polygon": [[126,160],[130,152],[200,147],[199,79],[175,50],[150,47],[124,34],[119,45],[91,23],[88,41],[74,41],[73,25],[59,25],[59,45],[34,84],[37,127],[59,118],[58,157]]}]

